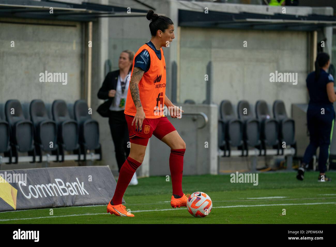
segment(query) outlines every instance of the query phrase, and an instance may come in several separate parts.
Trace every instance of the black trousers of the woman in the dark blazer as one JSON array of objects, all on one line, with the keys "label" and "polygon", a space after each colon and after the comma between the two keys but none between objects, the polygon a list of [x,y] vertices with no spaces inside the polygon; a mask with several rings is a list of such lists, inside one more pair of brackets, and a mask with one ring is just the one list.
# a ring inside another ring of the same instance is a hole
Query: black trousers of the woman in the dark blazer
[{"label": "black trousers of the woman in the dark blazer", "polygon": [[130,148],[127,148],[129,135],[124,111],[110,111],[109,124],[120,172],[130,152]]}]

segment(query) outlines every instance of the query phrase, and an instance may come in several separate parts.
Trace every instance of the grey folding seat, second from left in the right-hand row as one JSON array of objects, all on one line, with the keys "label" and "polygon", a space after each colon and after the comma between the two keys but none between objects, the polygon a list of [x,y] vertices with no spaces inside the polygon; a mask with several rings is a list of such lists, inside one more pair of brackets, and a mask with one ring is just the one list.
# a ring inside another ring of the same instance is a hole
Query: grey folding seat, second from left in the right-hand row
[{"label": "grey folding seat, second from left in the right-hand row", "polygon": [[243,138],[245,149],[247,150],[246,156],[248,156],[249,147],[258,148],[260,150],[259,155],[261,155],[260,121],[253,116],[253,110],[251,110],[249,102],[246,100],[239,101],[237,113],[238,118],[243,122]]}]

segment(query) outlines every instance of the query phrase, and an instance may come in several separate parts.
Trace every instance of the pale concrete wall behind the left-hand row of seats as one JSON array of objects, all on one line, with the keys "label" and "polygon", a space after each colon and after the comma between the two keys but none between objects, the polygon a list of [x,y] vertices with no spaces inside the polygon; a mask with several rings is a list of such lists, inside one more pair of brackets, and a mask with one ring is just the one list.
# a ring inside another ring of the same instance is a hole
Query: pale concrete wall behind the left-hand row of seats
[{"label": "pale concrete wall behind the left-hand row of seats", "polygon": [[[8,99],[51,103],[54,99],[72,102],[81,98],[81,23],[1,18],[0,30],[1,104]],[[39,74],[45,71],[68,73],[67,85],[40,82]]]}]

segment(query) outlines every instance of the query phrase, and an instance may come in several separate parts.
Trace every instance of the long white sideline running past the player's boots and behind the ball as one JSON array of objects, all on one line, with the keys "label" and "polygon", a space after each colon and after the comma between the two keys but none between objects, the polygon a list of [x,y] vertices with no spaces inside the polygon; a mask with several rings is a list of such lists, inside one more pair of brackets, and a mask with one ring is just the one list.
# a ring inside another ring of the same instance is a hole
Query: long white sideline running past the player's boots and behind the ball
[{"label": "long white sideline running past the player's boots and behind the ball", "polygon": [[[336,202],[234,205],[234,206],[219,206],[219,207],[212,207],[212,208],[266,207],[266,206],[319,205],[319,204],[336,204]],[[135,210],[135,211],[131,211],[131,213],[153,212],[153,211],[169,211],[169,210],[179,210],[179,209],[184,209],[185,210],[186,208],[183,207],[183,208],[167,208],[167,209],[153,209],[153,210]],[[27,220],[27,219],[44,219],[44,218],[60,218],[60,217],[85,216],[85,215],[102,215],[102,214],[109,214],[109,213],[86,213],[86,214],[69,214],[69,215],[59,215],[59,216],[34,217],[34,218],[0,219],[0,221]]]}]

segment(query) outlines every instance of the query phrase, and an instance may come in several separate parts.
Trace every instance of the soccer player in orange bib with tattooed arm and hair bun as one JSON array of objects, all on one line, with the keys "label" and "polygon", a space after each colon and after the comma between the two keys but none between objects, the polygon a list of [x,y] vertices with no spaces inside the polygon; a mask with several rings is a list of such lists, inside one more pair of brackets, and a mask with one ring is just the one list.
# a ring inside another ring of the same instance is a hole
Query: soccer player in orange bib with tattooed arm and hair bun
[{"label": "soccer player in orange bib with tattooed arm and hair bun", "polygon": [[162,114],[164,105],[172,118],[180,118],[183,112],[165,95],[166,63],[161,47],[167,46],[175,38],[174,24],[170,18],[154,14],[153,10],[148,11],[146,17],[151,20],[149,28],[152,38],[135,53],[124,111],[131,142],[130,154],[120,169],[116,191],[107,206],[107,212],[117,216],[134,217],[126,211],[121,200],[134,172],[143,161],[152,134],[171,149],[169,168],[173,195],[170,205],[173,208],[186,207],[188,199],[188,195],[182,192],[185,142]]}]

